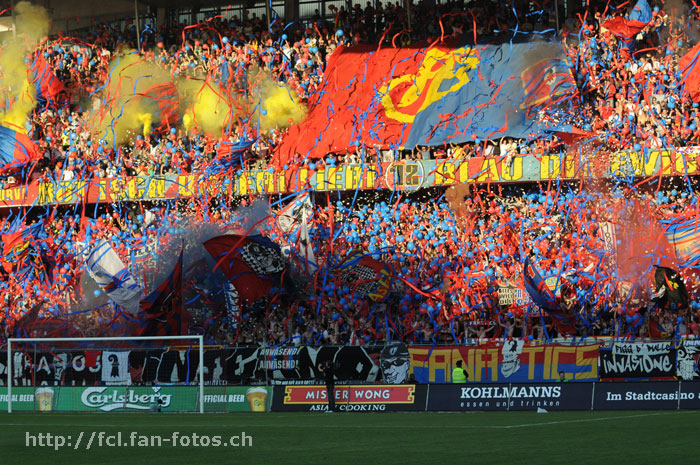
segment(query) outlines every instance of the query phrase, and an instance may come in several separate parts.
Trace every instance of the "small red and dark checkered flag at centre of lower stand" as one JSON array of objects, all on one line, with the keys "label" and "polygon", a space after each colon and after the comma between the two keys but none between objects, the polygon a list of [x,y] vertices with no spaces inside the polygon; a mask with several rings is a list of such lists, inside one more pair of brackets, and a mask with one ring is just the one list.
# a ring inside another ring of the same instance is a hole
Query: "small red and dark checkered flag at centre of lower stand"
[{"label": "small red and dark checkered flag at centre of lower stand", "polygon": [[382,302],[391,292],[394,270],[360,249],[351,251],[339,269],[343,285],[350,287],[356,297]]}]

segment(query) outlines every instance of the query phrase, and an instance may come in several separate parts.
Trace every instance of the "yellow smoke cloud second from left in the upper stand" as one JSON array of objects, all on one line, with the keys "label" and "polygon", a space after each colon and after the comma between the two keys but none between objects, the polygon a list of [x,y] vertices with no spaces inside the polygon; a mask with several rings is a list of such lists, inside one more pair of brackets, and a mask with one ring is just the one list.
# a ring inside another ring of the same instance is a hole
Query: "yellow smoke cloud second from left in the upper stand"
[{"label": "yellow smoke cloud second from left in the upper stand", "polygon": [[118,53],[109,64],[109,78],[102,91],[102,105],[92,114],[97,136],[110,145],[122,145],[136,134],[148,135],[158,101],[144,97],[150,87],[172,82],[170,75],[147,63],[133,51]]}]

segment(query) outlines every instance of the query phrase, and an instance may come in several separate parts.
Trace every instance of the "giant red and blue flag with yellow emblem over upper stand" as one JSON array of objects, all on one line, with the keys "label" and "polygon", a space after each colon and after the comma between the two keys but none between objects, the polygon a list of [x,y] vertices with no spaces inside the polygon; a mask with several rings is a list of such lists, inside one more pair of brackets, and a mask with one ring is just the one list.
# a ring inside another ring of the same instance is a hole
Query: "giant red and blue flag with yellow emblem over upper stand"
[{"label": "giant red and blue flag with yellow emblem over upper stand", "polygon": [[276,162],[365,145],[410,149],[474,137],[527,137],[540,128],[527,111],[530,105],[560,101],[576,90],[564,60],[533,60],[533,52],[535,45],[515,43],[340,46],[328,60],[323,89],[309,102],[307,118],[277,147]]}]

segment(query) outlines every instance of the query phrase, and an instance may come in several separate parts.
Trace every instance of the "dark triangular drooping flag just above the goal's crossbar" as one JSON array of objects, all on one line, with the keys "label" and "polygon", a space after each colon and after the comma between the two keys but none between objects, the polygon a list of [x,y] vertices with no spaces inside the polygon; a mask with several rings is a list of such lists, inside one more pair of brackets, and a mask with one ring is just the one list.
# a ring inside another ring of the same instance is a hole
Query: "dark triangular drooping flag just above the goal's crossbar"
[{"label": "dark triangular drooping flag just above the goal's crossbar", "polygon": [[141,301],[145,318],[139,336],[177,336],[187,334],[187,319],[182,307],[182,251],[168,278]]}]

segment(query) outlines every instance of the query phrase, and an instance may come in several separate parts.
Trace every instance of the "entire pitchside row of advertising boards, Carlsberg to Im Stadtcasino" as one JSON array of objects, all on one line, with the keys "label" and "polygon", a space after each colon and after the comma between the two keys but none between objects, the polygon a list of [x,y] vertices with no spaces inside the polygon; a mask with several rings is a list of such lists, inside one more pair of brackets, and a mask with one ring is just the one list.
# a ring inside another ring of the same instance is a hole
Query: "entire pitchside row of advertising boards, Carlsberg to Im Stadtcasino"
[{"label": "entire pitchside row of advertising boards, Carlsberg to Im Stadtcasino", "polygon": [[[196,386],[17,387],[13,411],[199,411]],[[700,382],[350,384],[334,390],[345,412],[700,409]],[[7,410],[0,388],[0,411]],[[160,400],[160,402],[159,402]],[[321,412],[324,385],[206,386],[205,412]]]}]

